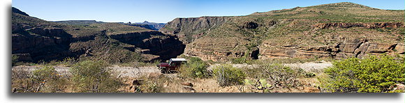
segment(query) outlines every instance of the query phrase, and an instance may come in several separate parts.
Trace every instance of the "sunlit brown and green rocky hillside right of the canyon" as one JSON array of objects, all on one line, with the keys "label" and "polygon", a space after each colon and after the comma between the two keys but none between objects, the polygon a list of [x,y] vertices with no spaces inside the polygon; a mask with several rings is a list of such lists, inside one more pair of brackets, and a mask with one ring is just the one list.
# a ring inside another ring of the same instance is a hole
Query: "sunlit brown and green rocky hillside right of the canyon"
[{"label": "sunlit brown and green rocky hillside right of the canyon", "polygon": [[237,17],[177,18],[161,29],[185,42],[184,54],[235,58],[347,58],[405,54],[404,10],[331,3]]}]

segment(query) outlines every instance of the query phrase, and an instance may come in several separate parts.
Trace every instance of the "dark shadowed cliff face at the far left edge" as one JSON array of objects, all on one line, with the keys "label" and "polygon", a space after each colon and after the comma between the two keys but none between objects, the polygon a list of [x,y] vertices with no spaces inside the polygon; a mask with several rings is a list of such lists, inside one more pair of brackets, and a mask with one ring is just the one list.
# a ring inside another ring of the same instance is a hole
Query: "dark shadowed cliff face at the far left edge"
[{"label": "dark shadowed cliff face at the far left edge", "polygon": [[59,28],[29,28],[12,25],[12,54],[20,61],[50,61],[71,56],[72,36]]}]

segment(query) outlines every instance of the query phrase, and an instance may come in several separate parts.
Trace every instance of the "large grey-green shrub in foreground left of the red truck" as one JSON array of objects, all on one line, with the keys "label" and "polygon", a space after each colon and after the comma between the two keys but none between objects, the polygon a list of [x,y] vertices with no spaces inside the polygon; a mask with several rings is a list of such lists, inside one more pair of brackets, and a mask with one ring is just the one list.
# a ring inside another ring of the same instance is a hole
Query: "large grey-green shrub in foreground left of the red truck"
[{"label": "large grey-green shrub in foreground left of the red truck", "polygon": [[113,93],[121,80],[112,76],[104,61],[82,61],[71,68],[73,88],[84,93]]}]

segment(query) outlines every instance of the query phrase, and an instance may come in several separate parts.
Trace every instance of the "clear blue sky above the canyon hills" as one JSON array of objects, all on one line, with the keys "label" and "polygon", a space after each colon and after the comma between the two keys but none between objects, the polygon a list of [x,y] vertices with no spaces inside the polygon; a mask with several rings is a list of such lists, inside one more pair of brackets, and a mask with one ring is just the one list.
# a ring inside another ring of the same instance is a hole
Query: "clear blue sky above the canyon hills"
[{"label": "clear blue sky above the canyon hills", "polygon": [[12,6],[48,21],[170,22],[176,17],[249,15],[297,6],[353,2],[404,10],[404,0],[13,0]]}]

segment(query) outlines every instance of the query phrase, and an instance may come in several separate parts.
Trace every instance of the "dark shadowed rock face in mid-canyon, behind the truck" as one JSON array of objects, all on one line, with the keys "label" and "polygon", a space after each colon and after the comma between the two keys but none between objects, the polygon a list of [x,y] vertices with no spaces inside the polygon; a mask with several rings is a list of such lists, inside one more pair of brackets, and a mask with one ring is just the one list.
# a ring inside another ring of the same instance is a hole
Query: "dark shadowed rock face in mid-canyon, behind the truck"
[{"label": "dark shadowed rock face in mid-canyon, behind the truck", "polygon": [[133,48],[128,48],[131,51],[140,48],[141,50],[139,52],[142,54],[156,55],[152,59],[167,60],[176,58],[176,56],[183,54],[184,48],[186,47],[186,45],[183,45],[175,36],[165,35],[159,31],[120,33],[110,35],[110,38],[119,40],[128,45],[133,45]]}]

